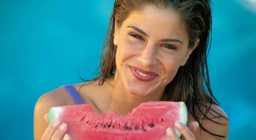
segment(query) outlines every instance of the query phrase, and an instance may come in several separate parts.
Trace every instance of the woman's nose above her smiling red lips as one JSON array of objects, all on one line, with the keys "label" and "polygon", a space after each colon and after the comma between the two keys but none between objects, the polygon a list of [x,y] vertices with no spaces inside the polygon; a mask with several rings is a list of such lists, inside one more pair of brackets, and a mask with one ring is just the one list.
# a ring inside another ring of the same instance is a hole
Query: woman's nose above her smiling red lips
[{"label": "woman's nose above her smiling red lips", "polygon": [[142,63],[143,66],[156,65],[158,59],[156,57],[156,48],[152,45],[147,45],[141,52],[138,60]]}]

